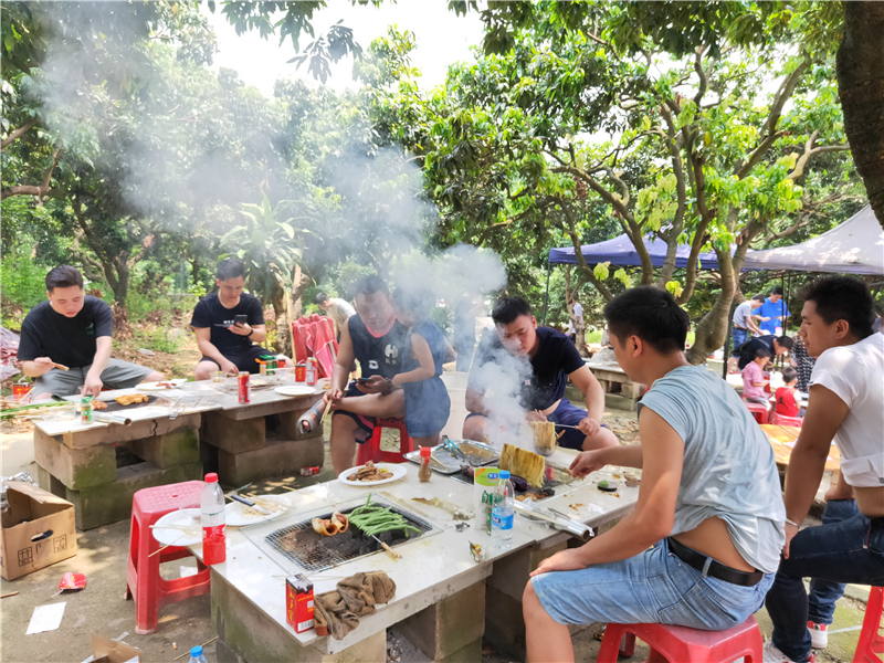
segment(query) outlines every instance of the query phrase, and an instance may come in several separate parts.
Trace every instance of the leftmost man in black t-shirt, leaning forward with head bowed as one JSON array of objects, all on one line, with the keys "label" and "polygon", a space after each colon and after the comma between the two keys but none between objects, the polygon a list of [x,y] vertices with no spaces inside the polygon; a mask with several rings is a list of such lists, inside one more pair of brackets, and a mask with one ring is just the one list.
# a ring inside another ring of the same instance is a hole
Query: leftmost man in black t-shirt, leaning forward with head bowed
[{"label": "leftmost man in black t-shirt, leaning forward with head bowed", "polygon": [[114,314],[83,292],[76,269],[62,265],[46,274],[46,297],[24,318],[19,344],[22,371],[34,378],[34,401],[73,396],[81,387],[84,394],[97,397],[102,387],[126,389],[164,379],[144,366],[110,358]]}]

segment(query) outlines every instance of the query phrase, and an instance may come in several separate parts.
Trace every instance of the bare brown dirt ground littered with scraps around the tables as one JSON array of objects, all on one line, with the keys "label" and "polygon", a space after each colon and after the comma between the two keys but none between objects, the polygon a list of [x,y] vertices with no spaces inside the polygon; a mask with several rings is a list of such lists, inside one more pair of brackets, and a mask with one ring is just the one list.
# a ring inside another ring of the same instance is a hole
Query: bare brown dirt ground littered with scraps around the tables
[{"label": "bare brown dirt ground littered with scraps around the tables", "polygon": [[[623,441],[634,440],[638,434],[634,413],[609,411],[606,421]],[[327,432],[326,432],[327,439]],[[30,469],[35,474],[33,443],[29,432],[4,433],[2,435],[2,474],[9,475],[21,469]],[[284,487],[304,487],[334,478],[332,462],[326,445],[326,462],[323,471],[313,477],[290,476],[262,482],[255,486],[256,493],[281,493]],[[90,635],[98,633],[118,638],[123,633],[127,643],[144,652],[145,661],[175,661],[189,651],[189,648],[209,642],[215,636],[210,620],[208,596],[189,599],[160,609],[160,625],[157,633],[138,635],[135,633],[135,604],[124,600],[127,572],[127,549],[129,523],[120,522],[107,527],[78,533],[80,552],[76,557],[35,571],[8,582],[0,581],[2,593],[19,592],[2,599],[0,604],[0,654],[10,663],[77,662],[90,655]],[[192,560],[178,560],[162,566],[164,577],[181,575],[181,567],[192,567]],[[57,585],[66,571],[86,575],[87,587],[76,593],[53,598]],[[61,627],[39,635],[24,635],[34,608],[48,603],[65,602],[66,608]],[[838,603],[830,646],[819,652],[817,661],[829,663],[849,661],[859,636],[864,604],[851,598]],[[770,621],[761,610],[758,613],[766,636],[770,635]],[[599,641],[594,635],[600,624],[588,624],[572,629],[572,638],[578,661],[593,661]],[[210,663],[217,661],[214,643],[204,648]],[[483,652],[483,663],[511,663],[511,659],[493,650],[490,645]],[[641,643],[635,655],[621,659],[624,662],[643,661],[648,650]],[[187,661],[187,656],[182,657]],[[429,661],[415,650],[396,629],[388,632],[388,661],[392,663],[423,663]],[[253,661],[251,663],[260,663]]]}]

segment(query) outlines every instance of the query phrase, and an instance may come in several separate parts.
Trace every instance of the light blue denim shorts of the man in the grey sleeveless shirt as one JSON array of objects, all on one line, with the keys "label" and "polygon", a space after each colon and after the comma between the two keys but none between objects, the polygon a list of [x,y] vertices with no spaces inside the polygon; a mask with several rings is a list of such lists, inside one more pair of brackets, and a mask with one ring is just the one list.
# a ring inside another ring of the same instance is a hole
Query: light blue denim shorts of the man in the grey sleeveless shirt
[{"label": "light blue denim shorts of the man in the grey sleeveless shirt", "polygon": [[666,539],[641,555],[577,571],[532,578],[547,614],[560,624],[662,623],[722,631],[765,602],[774,573],[755,587],[703,577],[670,551]]}]

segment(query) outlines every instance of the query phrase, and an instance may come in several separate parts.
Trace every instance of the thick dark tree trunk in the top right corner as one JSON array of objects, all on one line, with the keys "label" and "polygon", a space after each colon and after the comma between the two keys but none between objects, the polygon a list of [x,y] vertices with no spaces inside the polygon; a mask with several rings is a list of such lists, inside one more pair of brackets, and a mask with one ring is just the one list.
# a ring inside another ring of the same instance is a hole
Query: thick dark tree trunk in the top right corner
[{"label": "thick dark tree trunk in the top right corner", "polygon": [[838,90],[844,133],[869,201],[884,227],[884,2],[842,2]]}]

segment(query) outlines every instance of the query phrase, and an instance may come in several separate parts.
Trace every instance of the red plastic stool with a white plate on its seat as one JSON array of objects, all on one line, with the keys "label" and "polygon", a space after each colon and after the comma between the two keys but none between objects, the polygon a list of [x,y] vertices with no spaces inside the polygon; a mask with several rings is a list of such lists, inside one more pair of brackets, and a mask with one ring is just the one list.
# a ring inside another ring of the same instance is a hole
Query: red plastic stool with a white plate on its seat
[{"label": "red plastic stool with a white plate on its seat", "polygon": [[181,546],[169,546],[159,555],[150,556],[160,548],[150,526],[160,517],[179,508],[199,508],[201,481],[186,481],[156,488],[138,491],[131,504],[131,529],[129,530],[129,575],[126,581],[126,599],[135,599],[135,632],[155,633],[162,606],[190,597],[209,593],[209,568],[198,561],[196,576],[164,580],[159,565],[191,552]]}]

